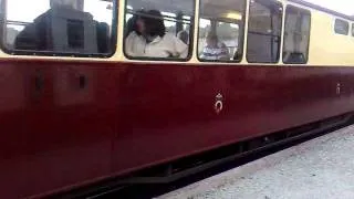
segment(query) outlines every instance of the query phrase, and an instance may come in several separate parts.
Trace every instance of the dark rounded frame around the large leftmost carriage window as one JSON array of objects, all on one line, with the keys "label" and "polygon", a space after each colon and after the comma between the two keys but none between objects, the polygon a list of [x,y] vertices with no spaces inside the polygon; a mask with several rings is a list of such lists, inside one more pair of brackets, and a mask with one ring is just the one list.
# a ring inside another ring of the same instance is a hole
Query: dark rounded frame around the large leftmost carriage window
[{"label": "dark rounded frame around the large leftmost carriage window", "polygon": [[[4,35],[7,29],[7,1],[2,0],[1,11],[3,13],[3,24],[1,27],[1,35]],[[108,59],[112,57],[117,51],[117,29],[118,29],[118,0],[112,0],[112,34],[110,40],[110,48],[112,49],[108,53],[72,53],[72,52],[55,52],[55,51],[33,51],[33,50],[17,50],[8,49],[4,44],[6,36],[2,36],[0,41],[0,49],[10,55],[29,55],[29,56],[64,56],[64,57],[94,57],[94,59]]]}]

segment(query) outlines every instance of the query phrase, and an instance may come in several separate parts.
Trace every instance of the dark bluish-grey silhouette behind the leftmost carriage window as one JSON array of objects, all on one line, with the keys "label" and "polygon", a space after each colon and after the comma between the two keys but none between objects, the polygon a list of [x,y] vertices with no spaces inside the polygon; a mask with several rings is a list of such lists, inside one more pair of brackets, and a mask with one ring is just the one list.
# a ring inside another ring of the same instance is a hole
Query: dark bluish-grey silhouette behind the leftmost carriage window
[{"label": "dark bluish-grey silhouette behind the leftmost carriage window", "polygon": [[106,53],[110,25],[84,12],[84,1],[50,0],[50,9],[25,25],[14,41],[15,50]]}]

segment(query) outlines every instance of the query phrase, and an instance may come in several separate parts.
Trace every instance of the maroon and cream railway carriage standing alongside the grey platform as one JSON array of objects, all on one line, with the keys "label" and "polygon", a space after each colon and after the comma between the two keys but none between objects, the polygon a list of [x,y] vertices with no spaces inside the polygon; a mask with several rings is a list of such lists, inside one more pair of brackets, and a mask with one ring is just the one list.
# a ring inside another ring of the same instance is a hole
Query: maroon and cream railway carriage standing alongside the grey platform
[{"label": "maroon and cream railway carriage standing alongside the grey platform", "polygon": [[[0,2],[1,198],[180,169],[186,157],[241,154],[354,108],[352,19],[303,1]],[[187,33],[187,59],[126,56],[140,8]],[[208,31],[228,59],[200,55]]]}]

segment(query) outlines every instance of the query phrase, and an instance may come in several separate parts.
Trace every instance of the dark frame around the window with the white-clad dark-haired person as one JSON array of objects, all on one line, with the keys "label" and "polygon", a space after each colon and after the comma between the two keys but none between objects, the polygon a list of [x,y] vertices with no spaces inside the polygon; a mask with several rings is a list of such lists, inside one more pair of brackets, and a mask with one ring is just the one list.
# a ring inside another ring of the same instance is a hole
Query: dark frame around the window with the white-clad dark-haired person
[{"label": "dark frame around the window with the white-clad dark-haired person", "polygon": [[[126,28],[126,23],[127,23],[127,12],[126,12],[126,7],[127,7],[127,3],[128,0],[124,0],[124,23],[122,24],[123,25],[123,32],[125,31],[125,28]],[[153,56],[131,56],[128,55],[126,52],[125,52],[125,39],[123,36],[123,43],[122,43],[122,52],[123,52],[123,55],[125,56],[125,59],[127,60],[133,60],[133,61],[168,61],[168,62],[188,62],[189,60],[191,60],[192,57],[192,50],[194,50],[194,32],[195,32],[195,19],[196,19],[196,1],[192,0],[192,15],[190,15],[190,31],[189,31],[189,45],[188,45],[188,55],[187,57],[185,59],[176,59],[176,57],[153,57]],[[123,33],[124,35],[124,33]]]}]

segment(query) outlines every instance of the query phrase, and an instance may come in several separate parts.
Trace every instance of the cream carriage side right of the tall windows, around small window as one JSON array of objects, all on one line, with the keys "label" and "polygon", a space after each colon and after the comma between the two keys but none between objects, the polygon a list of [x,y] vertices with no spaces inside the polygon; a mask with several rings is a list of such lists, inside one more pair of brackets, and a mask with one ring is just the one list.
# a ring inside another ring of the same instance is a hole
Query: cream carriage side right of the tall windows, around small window
[{"label": "cream carriage side right of the tall windows, around small window", "polygon": [[[351,34],[353,18],[321,8],[303,0],[289,0],[289,4],[311,11],[309,65],[353,66],[354,38]],[[344,34],[336,32],[337,21],[347,24]]]}]

